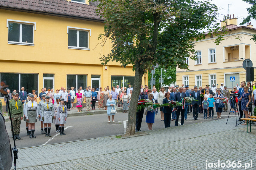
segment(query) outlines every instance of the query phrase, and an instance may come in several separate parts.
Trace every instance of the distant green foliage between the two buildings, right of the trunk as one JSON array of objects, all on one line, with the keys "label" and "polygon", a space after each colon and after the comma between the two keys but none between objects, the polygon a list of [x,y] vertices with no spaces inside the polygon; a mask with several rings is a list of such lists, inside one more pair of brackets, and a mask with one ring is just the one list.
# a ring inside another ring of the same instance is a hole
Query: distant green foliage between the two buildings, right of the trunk
[{"label": "distant green foliage between the two buildings, right of the trunk", "polygon": [[[148,86],[149,88],[151,88],[150,85],[150,79],[151,79],[151,72],[149,70],[148,73]],[[159,82],[159,79],[161,78],[161,67],[159,68],[155,68],[155,74],[153,75],[153,77],[155,78],[155,88],[157,89],[157,91],[159,91],[159,89],[161,88],[161,82]],[[174,83],[176,81],[176,67],[172,68],[172,67],[168,67],[167,69],[162,68],[162,78],[163,78],[163,85],[169,85],[171,83]]]}]

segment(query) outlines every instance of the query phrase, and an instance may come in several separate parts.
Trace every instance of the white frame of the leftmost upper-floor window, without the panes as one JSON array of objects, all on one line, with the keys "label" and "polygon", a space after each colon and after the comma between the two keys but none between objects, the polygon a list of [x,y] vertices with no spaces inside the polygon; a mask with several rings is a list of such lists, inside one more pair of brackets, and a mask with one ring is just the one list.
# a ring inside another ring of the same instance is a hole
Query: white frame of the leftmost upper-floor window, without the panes
[{"label": "white frame of the leftmost upper-floor window, without the panes", "polygon": [[[21,21],[21,20],[10,20],[7,19],[6,21],[6,27],[9,29],[9,22],[11,23],[18,23],[20,24],[20,41],[8,41],[9,38],[9,30],[8,30],[8,36],[7,36],[7,42],[8,44],[15,44],[15,45],[25,45],[25,46],[34,46],[34,31],[36,30],[36,22],[30,22],[30,21]],[[26,24],[26,25],[33,25],[33,35],[32,35],[32,43],[25,43],[22,42],[22,24]]]}]

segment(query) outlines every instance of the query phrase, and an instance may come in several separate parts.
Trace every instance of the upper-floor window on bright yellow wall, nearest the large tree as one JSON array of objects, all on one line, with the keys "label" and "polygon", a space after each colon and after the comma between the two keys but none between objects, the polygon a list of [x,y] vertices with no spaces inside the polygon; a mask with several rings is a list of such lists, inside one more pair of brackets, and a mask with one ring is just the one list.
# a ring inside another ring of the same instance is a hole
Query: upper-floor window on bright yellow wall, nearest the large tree
[{"label": "upper-floor window on bright yellow wall, nearest the large tree", "polygon": [[[90,29],[68,27],[68,48],[70,49],[89,49],[89,36],[91,36]],[[90,35],[89,35],[90,34]]]}]

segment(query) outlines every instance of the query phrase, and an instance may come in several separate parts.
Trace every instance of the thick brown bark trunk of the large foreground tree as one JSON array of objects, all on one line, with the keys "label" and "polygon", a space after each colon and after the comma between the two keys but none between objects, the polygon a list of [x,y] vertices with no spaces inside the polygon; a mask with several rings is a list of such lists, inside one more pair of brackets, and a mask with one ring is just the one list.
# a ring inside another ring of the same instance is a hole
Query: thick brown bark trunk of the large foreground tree
[{"label": "thick brown bark trunk of the large foreground tree", "polygon": [[128,122],[126,127],[126,136],[135,134],[135,125],[136,125],[136,112],[138,106],[138,98],[140,94],[142,76],[144,75],[144,70],[141,68],[140,62],[135,63],[135,76],[134,76],[134,85],[133,92],[131,96],[131,102],[129,107]]}]

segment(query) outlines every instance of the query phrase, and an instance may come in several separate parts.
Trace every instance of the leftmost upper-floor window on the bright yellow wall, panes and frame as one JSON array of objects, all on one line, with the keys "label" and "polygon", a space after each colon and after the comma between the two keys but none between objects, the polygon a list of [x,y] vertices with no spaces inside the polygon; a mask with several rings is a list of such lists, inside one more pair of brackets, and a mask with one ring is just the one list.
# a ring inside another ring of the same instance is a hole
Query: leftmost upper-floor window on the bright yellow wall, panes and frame
[{"label": "leftmost upper-floor window on the bright yellow wall, panes and frame", "polygon": [[34,46],[35,22],[8,20],[8,44]]}]

